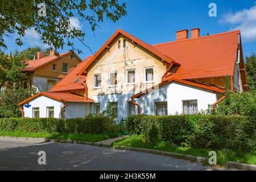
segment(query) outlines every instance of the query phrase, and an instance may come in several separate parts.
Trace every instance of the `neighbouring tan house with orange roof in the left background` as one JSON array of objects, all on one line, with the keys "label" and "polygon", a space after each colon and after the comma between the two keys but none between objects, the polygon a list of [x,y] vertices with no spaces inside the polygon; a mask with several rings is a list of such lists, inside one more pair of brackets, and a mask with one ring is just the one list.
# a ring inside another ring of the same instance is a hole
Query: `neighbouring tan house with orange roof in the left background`
[{"label": "neighbouring tan house with orange roof in the left background", "polygon": [[47,92],[57,82],[67,75],[82,60],[73,51],[60,53],[59,56],[51,51],[49,56],[44,52],[37,53],[37,59],[27,60],[27,80],[23,80],[23,88],[35,88],[36,93]]}]

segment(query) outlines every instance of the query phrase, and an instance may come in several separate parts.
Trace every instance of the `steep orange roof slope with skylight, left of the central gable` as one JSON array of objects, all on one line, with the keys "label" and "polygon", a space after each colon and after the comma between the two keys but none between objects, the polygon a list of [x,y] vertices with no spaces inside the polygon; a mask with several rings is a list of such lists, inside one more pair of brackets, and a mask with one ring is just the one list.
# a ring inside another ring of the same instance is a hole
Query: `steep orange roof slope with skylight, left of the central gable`
[{"label": "steep orange roof slope with skylight, left of the central gable", "polygon": [[[79,71],[85,66],[88,65],[92,56],[88,56],[84,61],[82,61],[79,65],[76,66],[68,75],[63,77],[55,86],[53,86],[49,92],[61,92],[65,90],[81,90],[84,89],[84,85],[80,81],[77,81],[77,74]],[[81,81],[85,81],[85,76],[79,76]]]}]

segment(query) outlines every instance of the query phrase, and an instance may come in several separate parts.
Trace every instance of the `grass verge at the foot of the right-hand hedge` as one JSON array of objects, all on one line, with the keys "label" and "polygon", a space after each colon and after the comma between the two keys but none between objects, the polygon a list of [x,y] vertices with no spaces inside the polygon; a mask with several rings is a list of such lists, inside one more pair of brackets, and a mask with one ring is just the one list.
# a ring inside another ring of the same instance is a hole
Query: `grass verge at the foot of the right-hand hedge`
[{"label": "grass verge at the foot of the right-hand hedge", "polygon": [[[152,150],[176,152],[184,155],[202,156],[205,158],[209,158],[209,151],[212,151],[207,148],[179,147],[168,142],[149,142],[142,135],[131,135],[130,137],[113,142],[112,146],[148,148]],[[256,151],[247,153],[225,149],[214,151],[217,153],[217,164],[220,166],[225,166],[228,161],[256,164]]]}]

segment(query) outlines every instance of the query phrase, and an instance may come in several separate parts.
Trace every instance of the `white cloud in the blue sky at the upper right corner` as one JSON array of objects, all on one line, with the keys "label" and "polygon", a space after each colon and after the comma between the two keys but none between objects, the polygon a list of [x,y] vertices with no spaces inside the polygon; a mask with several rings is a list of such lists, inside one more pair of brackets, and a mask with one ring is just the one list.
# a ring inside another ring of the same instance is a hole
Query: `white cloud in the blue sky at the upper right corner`
[{"label": "white cloud in the blue sky at the upper right corner", "polygon": [[231,30],[241,30],[243,40],[247,42],[254,41],[256,40],[256,5],[235,13],[226,13],[219,23],[230,24],[232,26]]}]

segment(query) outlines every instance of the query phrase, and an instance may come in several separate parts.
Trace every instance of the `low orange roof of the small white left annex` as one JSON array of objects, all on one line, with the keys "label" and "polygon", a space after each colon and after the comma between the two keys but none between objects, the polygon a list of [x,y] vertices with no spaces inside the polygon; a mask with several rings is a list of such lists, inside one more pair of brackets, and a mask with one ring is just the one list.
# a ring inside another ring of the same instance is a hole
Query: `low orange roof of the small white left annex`
[{"label": "low orange roof of the small white left annex", "polygon": [[60,102],[94,102],[90,98],[86,99],[85,97],[77,96],[77,95],[71,94],[71,93],[39,92],[39,93],[35,94],[34,96],[28,98],[27,100],[20,102],[19,105],[23,105],[26,102],[31,101],[38,96],[46,96],[46,97],[52,98],[52,99],[60,101]]}]

